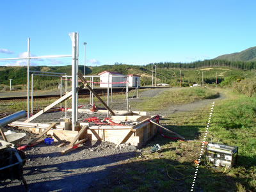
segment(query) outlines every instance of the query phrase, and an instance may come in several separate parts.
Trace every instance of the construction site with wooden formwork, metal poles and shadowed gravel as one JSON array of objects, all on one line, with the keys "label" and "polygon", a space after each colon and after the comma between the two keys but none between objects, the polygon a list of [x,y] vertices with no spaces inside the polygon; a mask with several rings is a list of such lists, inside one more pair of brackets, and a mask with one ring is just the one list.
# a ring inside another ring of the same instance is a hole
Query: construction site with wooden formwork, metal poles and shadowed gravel
[{"label": "construction site with wooden formwork, metal poles and shadowed gravel", "polygon": [[[106,172],[118,162],[140,155],[141,148],[156,136],[157,127],[184,140],[179,134],[161,126],[158,114],[148,115],[145,111],[131,109],[129,99],[139,97],[140,83],[137,78],[140,76],[132,75],[136,77],[134,94],[137,96],[134,97],[133,94],[129,98],[128,76],[114,73],[114,78],[119,77],[119,82],[114,82],[113,73],[108,72],[106,83],[102,83],[108,88],[107,102],[102,100],[93,90],[93,80],[88,83],[86,76],[77,72],[78,34],[71,33],[70,38],[72,54],[68,56],[72,57],[72,91],[61,93],[60,99],[36,113],[33,113],[33,90],[31,93],[29,90],[29,60],[33,57],[27,58],[28,109],[0,120],[0,173],[1,180],[4,180],[3,191],[41,191],[42,185],[43,191],[87,191],[93,188],[93,182],[104,177],[100,172]],[[20,58],[7,60],[15,59]],[[67,75],[65,77],[67,81]],[[78,86],[79,83],[82,85]],[[109,97],[111,96],[112,101],[112,87],[118,83],[124,88],[126,86],[125,98],[122,100],[123,104],[119,104],[114,110],[109,107]],[[33,84],[31,88],[33,89]],[[84,88],[90,91],[90,104],[87,105],[88,108],[79,108],[78,92]],[[32,97],[29,97],[30,94]],[[93,97],[100,102],[102,108],[93,103]],[[32,99],[33,115],[29,115],[29,98]],[[70,109],[67,108],[68,99],[72,100]],[[60,106],[61,111],[52,109],[64,103],[65,108]],[[82,186],[81,177],[84,177]]]}]

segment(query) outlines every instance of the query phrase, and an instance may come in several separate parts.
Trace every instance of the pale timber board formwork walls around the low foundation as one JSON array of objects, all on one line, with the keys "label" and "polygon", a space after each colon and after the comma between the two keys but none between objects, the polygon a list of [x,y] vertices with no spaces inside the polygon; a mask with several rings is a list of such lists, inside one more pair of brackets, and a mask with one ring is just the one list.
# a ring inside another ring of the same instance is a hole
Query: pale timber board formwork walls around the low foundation
[{"label": "pale timber board formwork walls around the low foundation", "polygon": [[[141,147],[148,140],[150,140],[157,132],[155,124],[150,122],[156,122],[157,116],[119,116],[119,118],[124,118],[125,120],[129,118],[134,118],[136,120],[144,119],[136,125],[94,125],[90,126],[87,123],[81,123],[80,126],[77,126],[77,131],[68,131],[68,130],[58,130],[52,127],[51,130],[47,131],[47,134],[51,134],[56,141],[68,141],[71,142],[78,132],[81,130],[81,127],[86,126],[86,131],[83,135],[79,137],[79,140],[88,138],[89,140],[101,140],[109,141],[115,143],[117,146],[121,143],[131,143],[135,147]],[[13,127],[19,127],[21,129],[26,129],[27,131],[40,133],[43,132],[49,124],[35,124],[35,123],[24,123],[24,122],[13,122],[9,124]],[[57,126],[58,127],[58,126]],[[57,139],[58,138],[58,139]]]}]

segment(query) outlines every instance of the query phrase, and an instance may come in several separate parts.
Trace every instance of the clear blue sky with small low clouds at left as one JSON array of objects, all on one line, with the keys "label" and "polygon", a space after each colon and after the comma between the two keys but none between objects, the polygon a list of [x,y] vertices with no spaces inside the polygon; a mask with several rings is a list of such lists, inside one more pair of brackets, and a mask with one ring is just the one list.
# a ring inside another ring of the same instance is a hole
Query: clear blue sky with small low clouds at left
[{"label": "clear blue sky with small low clouds at left", "polygon": [[[0,1],[0,58],[71,54],[79,33],[79,65],[189,63],[255,46],[256,1]],[[71,58],[31,60],[70,65]],[[0,61],[26,65],[26,61]]]}]

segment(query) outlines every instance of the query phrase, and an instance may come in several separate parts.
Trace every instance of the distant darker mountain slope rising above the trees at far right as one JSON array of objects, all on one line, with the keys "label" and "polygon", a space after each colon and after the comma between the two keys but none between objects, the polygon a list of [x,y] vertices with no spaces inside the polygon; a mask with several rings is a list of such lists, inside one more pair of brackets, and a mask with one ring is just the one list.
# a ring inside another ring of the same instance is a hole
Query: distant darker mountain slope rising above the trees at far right
[{"label": "distant darker mountain slope rising above the trees at far right", "polygon": [[256,61],[256,47],[250,47],[241,52],[234,52],[231,54],[223,54],[223,55],[215,58],[215,60]]}]

